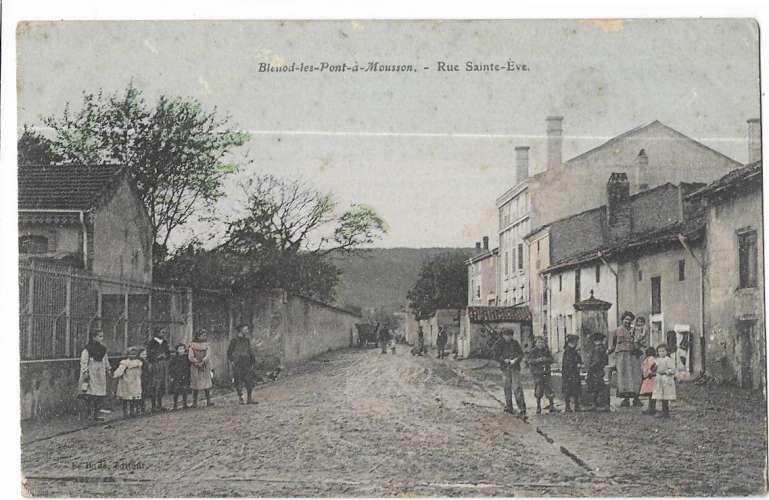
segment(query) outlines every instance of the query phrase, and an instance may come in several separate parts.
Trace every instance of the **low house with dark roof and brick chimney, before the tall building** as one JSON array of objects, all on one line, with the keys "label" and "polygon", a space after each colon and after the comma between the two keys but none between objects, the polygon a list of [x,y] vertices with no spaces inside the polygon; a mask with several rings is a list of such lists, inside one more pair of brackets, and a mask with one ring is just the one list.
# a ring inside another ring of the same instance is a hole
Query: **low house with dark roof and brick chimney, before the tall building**
[{"label": "low house with dark roof and brick chimney, before the tall building", "polygon": [[535,328],[547,335],[551,350],[560,354],[571,334],[589,344],[599,326],[581,321],[578,306],[590,296],[606,305],[600,327],[606,331],[600,333],[615,329],[619,313],[630,310],[642,318],[639,329],[647,345],[685,344],[680,369],[693,373],[691,361],[702,358],[691,338],[701,331],[697,304],[705,221],[702,204],[687,196],[703,186],[665,183],[631,195],[627,174],[613,173],[605,205],[527,235],[530,246],[547,248],[537,269],[540,308],[532,315],[540,318]]}]

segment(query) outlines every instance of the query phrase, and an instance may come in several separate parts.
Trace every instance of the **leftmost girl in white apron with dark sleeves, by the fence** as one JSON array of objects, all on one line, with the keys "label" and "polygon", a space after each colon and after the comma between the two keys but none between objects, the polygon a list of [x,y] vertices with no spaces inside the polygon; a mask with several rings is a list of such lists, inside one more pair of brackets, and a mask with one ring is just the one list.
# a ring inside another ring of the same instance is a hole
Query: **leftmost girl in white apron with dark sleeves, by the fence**
[{"label": "leftmost girl in white apron with dark sleeves, by the fence", "polygon": [[88,404],[89,417],[104,420],[99,413],[102,401],[107,397],[107,377],[110,374],[109,356],[104,346],[101,330],[91,333],[88,344],[80,354],[79,397]]}]

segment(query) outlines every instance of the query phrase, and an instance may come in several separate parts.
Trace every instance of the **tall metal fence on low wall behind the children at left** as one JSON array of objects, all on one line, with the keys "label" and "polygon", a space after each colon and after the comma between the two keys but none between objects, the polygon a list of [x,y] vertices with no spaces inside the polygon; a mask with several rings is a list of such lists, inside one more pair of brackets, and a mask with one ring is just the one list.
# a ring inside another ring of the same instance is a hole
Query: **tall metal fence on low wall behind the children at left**
[{"label": "tall metal fence on low wall behind the children at left", "polygon": [[190,289],[164,288],[94,276],[44,262],[19,263],[21,359],[77,357],[101,328],[110,354],[144,343],[155,327],[169,343],[192,332]]}]

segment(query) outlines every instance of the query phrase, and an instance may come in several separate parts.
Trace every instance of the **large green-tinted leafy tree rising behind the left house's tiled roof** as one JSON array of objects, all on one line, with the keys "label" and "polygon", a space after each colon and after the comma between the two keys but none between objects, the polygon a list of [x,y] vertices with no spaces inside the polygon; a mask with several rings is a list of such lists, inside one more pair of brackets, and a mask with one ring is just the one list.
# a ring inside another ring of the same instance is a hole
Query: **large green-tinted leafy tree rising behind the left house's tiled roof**
[{"label": "large green-tinted leafy tree rising behind the left house's tiled roof", "polygon": [[165,258],[173,231],[222,195],[228,161],[248,134],[230,128],[229,116],[196,100],[161,96],[148,104],[129,84],[122,93],[83,93],[82,107],[67,104],[44,118],[55,132],[51,149],[63,162],[126,165],[152,220],[156,262]]}]

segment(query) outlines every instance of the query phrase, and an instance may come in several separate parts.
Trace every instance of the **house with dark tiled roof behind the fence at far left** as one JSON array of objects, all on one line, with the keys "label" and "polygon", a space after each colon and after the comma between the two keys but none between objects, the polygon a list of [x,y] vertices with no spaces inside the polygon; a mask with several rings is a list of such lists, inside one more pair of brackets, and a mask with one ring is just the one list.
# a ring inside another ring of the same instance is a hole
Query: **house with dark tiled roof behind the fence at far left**
[{"label": "house with dark tiled roof behind the fence at far left", "polygon": [[152,282],[152,225],[127,169],[24,166],[18,186],[20,259]]}]

